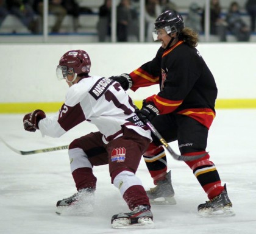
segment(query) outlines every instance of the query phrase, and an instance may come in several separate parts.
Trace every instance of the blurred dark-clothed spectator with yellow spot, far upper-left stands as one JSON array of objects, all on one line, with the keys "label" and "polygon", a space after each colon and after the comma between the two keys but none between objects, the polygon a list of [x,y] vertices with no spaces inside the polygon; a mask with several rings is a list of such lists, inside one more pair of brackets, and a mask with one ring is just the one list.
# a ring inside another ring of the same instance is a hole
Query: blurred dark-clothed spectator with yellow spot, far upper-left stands
[{"label": "blurred dark-clothed spectator with yellow spot, far upper-left stands", "polygon": [[29,0],[8,0],[6,3],[10,13],[19,18],[27,29],[33,34],[39,34],[40,22]]}]

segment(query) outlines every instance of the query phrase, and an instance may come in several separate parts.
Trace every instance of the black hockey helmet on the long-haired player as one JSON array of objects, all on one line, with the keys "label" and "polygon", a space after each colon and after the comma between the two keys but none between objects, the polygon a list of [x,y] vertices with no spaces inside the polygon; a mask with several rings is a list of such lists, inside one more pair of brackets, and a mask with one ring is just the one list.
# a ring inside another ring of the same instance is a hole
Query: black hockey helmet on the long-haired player
[{"label": "black hockey helmet on the long-haired player", "polygon": [[180,32],[184,28],[184,21],[180,13],[176,10],[166,10],[155,20],[155,29],[162,29],[169,26],[169,30],[166,32],[175,33]]}]

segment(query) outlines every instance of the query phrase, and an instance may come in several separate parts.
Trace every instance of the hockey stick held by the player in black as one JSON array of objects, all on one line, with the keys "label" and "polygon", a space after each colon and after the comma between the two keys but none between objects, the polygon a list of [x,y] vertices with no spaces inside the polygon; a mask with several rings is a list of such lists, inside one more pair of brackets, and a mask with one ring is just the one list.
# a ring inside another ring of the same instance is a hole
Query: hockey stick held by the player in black
[{"label": "hockey stick held by the player in black", "polygon": [[169,144],[166,142],[165,139],[163,139],[163,137],[160,135],[160,133],[157,131],[157,129],[155,129],[155,127],[153,126],[153,124],[149,121],[146,121],[146,125],[149,127],[149,129],[151,130],[152,133],[154,133],[155,137],[158,138],[158,140],[163,144],[163,146],[165,146],[165,148],[167,149],[167,151],[172,155],[172,157],[176,160],[179,161],[193,161],[196,160],[198,158],[202,158],[206,154],[199,154],[199,155],[194,155],[194,156],[183,156],[183,155],[179,155],[176,154],[176,152],[174,152],[172,150],[172,148],[169,146]]}]

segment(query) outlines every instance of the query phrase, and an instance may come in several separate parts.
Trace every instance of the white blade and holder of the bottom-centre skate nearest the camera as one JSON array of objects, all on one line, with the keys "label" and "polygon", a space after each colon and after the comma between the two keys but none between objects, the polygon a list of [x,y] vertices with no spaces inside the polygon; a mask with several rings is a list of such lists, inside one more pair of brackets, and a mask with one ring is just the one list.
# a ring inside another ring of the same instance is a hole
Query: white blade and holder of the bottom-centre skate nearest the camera
[{"label": "white blade and holder of the bottom-centre skate nearest the camera", "polygon": [[130,224],[130,219],[115,219],[112,222],[113,229],[154,229],[155,225],[151,218],[139,218],[135,224]]}]

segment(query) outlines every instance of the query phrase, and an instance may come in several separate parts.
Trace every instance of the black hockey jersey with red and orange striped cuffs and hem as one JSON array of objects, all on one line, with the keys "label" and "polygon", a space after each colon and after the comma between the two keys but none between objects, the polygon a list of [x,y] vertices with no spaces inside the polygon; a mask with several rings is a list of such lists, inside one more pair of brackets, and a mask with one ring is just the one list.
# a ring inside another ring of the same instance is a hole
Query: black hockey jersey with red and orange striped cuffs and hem
[{"label": "black hockey jersey with red and orange striped cuffs and hem", "polygon": [[215,79],[196,48],[178,41],[168,49],[158,49],[150,62],[130,76],[132,90],[158,83],[160,92],[146,99],[154,102],[160,114],[187,115],[210,127],[215,118],[217,87]]}]

